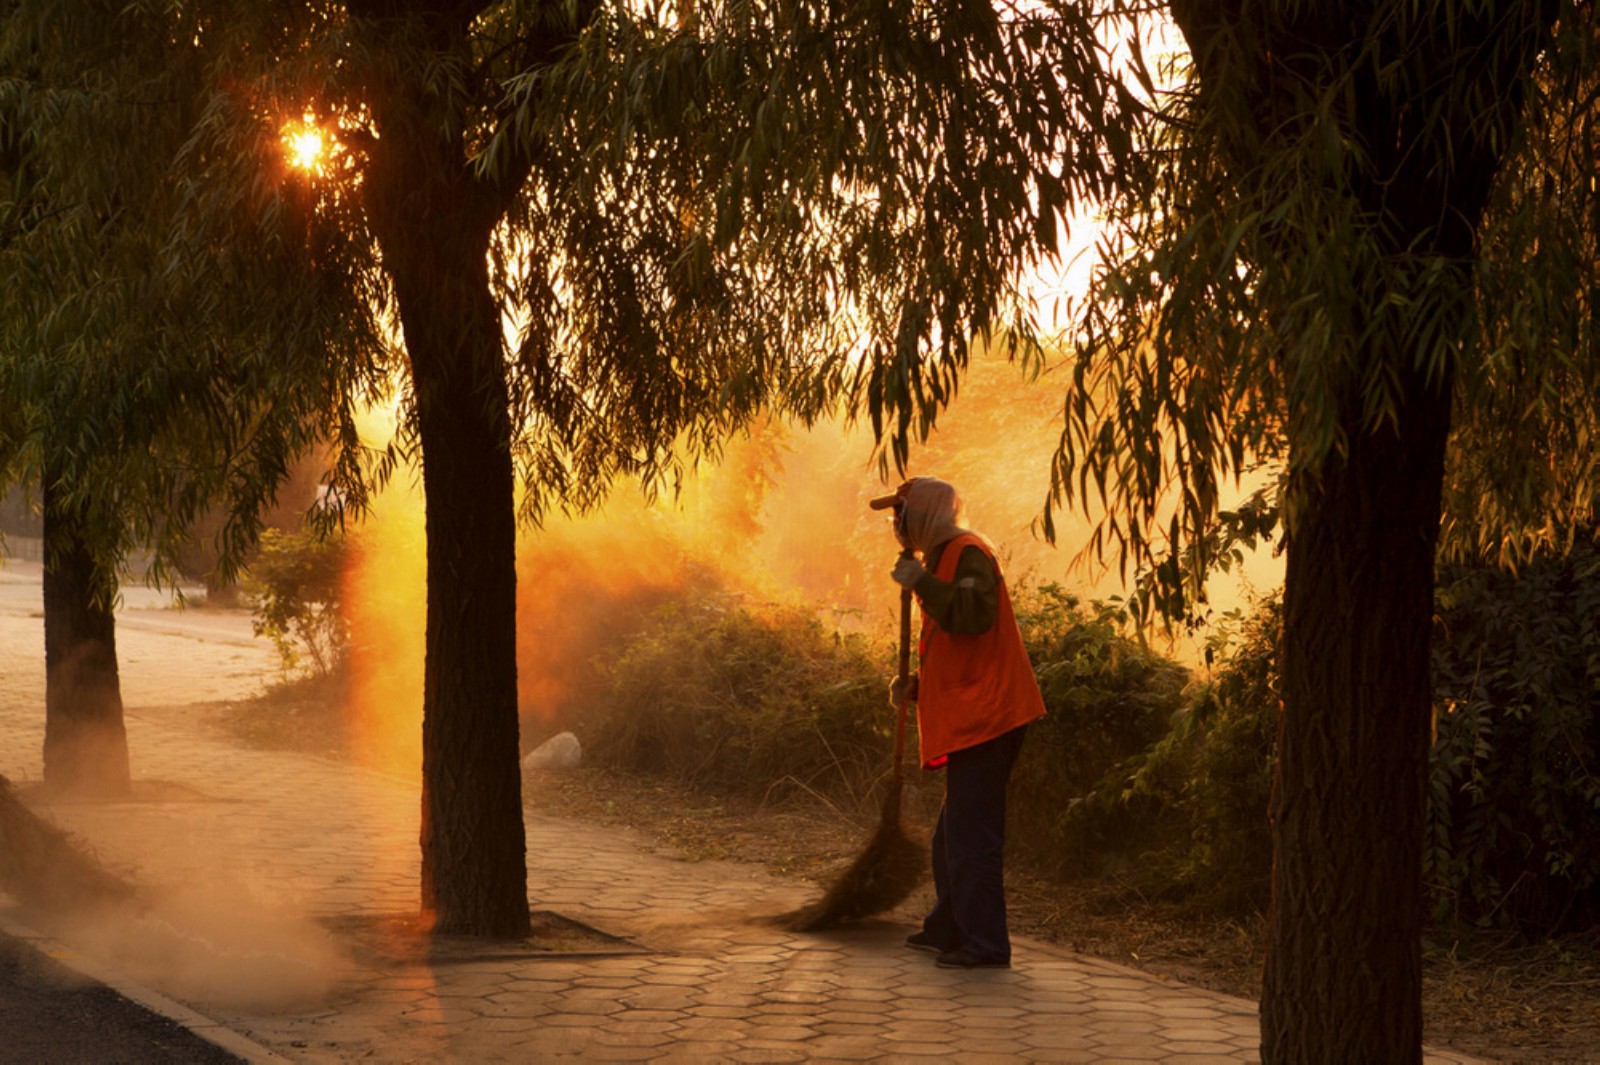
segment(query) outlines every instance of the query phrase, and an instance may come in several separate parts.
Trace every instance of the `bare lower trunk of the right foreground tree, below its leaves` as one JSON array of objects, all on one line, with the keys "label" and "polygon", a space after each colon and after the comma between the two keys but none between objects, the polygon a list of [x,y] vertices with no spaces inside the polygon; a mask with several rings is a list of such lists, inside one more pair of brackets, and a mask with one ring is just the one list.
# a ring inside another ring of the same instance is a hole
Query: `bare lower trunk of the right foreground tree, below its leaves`
[{"label": "bare lower trunk of the right foreground tree, below its leaves", "polygon": [[[1283,585],[1266,1062],[1419,1062],[1434,547],[1450,385],[1304,486]],[[1346,419],[1350,430],[1358,419]]]}]

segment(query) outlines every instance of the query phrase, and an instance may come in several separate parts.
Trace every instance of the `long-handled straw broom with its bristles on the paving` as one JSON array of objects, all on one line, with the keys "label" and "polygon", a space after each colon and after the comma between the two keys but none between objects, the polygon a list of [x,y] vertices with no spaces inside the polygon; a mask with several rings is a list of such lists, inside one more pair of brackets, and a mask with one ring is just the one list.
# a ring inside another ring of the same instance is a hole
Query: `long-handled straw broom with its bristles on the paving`
[{"label": "long-handled straw broom with its bristles on the paving", "polygon": [[[909,552],[907,552],[909,553]],[[910,588],[901,588],[899,684],[910,678]],[[856,860],[821,900],[784,916],[798,932],[834,927],[845,921],[893,910],[906,900],[928,870],[926,848],[901,827],[901,792],[906,785],[906,699],[894,723],[894,766],[878,814],[878,828]]]}]

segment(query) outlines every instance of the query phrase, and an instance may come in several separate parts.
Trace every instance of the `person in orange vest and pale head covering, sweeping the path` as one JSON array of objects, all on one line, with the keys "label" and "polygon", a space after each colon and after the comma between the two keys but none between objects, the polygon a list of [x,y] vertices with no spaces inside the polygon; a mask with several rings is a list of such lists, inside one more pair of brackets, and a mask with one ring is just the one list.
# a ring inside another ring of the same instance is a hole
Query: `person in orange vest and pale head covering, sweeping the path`
[{"label": "person in orange vest and pale head covering, sweeping the path", "polygon": [[890,688],[894,707],[917,704],[923,769],[944,769],[933,830],[933,910],[907,947],[952,969],[1010,967],[1005,911],[1006,784],[1027,726],[1045,716],[1034,667],[994,548],[960,528],[955,488],[915,477],[870,502],[894,509],[907,555],[896,584],[922,606],[918,668]]}]

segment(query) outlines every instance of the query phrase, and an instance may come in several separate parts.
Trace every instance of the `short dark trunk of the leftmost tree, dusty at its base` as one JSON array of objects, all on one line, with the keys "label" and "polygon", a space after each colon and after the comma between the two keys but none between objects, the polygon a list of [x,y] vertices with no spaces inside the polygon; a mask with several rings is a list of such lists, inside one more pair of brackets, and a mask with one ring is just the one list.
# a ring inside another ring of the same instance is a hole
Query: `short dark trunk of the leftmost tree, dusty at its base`
[{"label": "short dark trunk of the leftmost tree, dusty at its base", "polygon": [[80,515],[45,483],[45,784],[80,798],[128,793],[117,673],[115,579]]}]

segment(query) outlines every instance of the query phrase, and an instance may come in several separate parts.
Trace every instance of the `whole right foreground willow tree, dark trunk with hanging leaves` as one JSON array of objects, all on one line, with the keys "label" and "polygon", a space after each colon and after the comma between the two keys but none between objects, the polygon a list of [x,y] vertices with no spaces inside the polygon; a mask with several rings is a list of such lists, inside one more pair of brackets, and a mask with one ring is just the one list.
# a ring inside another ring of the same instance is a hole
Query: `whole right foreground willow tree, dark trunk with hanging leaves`
[{"label": "whole right foreground willow tree, dark trunk with hanging leaves", "polygon": [[[1549,86],[1592,69],[1594,10],[1170,10],[1190,62],[1085,302],[1054,497],[1107,502],[1106,544],[1176,579],[1205,566],[1221,485],[1250,462],[1282,472],[1262,1057],[1414,1062],[1429,635],[1453,424],[1472,429],[1458,448],[1499,449],[1480,465],[1509,473],[1501,488],[1538,473],[1514,470],[1514,456],[1573,472],[1531,477],[1517,505],[1482,505],[1494,491],[1480,480],[1458,496],[1475,513],[1454,517],[1526,517],[1557,485],[1594,501],[1587,448],[1547,446],[1573,416],[1594,424],[1592,267],[1550,269],[1560,253],[1515,240],[1550,214],[1557,189],[1594,200],[1592,171],[1541,163],[1560,99]],[[1594,96],[1579,101],[1566,117],[1592,130]],[[1592,224],[1592,206],[1578,214]],[[1573,248],[1560,229],[1542,235]],[[1544,269],[1504,283],[1541,257]],[[1544,445],[1523,448],[1533,437]]]}]

